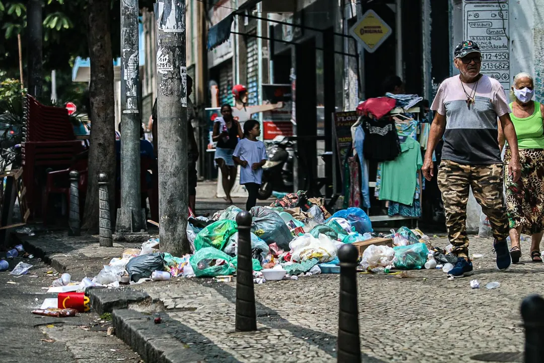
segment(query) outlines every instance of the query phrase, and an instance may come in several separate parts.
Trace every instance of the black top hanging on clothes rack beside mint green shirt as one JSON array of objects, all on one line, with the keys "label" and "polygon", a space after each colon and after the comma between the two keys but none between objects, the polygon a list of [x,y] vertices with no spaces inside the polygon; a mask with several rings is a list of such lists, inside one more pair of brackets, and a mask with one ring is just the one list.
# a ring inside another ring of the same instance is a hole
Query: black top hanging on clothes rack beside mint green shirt
[{"label": "black top hanging on clothes rack beside mint green shirt", "polygon": [[400,153],[400,141],[397,135],[395,121],[389,116],[379,120],[365,118],[364,158],[378,162],[394,160]]}]

